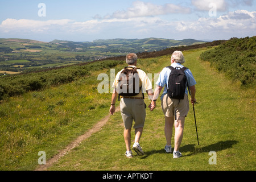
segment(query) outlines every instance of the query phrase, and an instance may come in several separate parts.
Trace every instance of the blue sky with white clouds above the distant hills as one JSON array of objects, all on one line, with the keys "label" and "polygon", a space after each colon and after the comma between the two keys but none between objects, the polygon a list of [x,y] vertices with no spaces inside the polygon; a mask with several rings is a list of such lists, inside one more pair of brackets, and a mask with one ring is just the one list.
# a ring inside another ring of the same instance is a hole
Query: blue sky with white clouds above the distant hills
[{"label": "blue sky with white clouds above the distant hills", "polygon": [[0,1],[0,38],[227,40],[254,35],[255,0]]}]

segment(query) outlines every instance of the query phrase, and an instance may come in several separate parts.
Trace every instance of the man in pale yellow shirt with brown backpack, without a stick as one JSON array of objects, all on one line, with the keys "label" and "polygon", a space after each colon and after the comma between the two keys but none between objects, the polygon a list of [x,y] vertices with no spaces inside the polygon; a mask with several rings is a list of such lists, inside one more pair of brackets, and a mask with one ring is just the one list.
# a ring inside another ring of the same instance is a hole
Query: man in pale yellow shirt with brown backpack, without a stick
[{"label": "man in pale yellow shirt with brown backpack, without a stick", "polygon": [[[144,103],[144,94],[143,90],[146,90],[149,97],[152,98],[154,95],[152,90],[152,84],[148,76],[144,71],[137,68],[137,55],[135,53],[129,53],[126,55],[126,63],[128,64],[128,67],[125,69],[122,69],[120,72],[117,73],[117,76],[115,77],[114,83],[113,83],[113,94],[112,94],[112,102],[110,106],[110,114],[115,113],[115,101],[117,100],[118,94],[122,93],[124,90],[122,90],[120,86],[120,82],[122,82],[122,75],[126,78],[124,72],[129,71],[135,71],[134,75],[137,75],[139,77],[138,80],[135,80],[134,83],[135,86],[138,85],[139,89],[134,94],[135,96],[129,96],[129,94],[120,94],[121,100],[120,100],[120,109],[121,109],[121,115],[123,119],[123,123],[125,126],[125,130],[123,131],[123,137],[125,138],[125,144],[126,144],[126,157],[132,158],[133,155],[131,153],[131,127],[133,125],[134,120],[134,129],[135,129],[135,142],[133,144],[133,150],[137,152],[138,155],[144,155],[144,152],[139,145],[139,140],[141,139],[144,122],[146,118],[146,105]],[[130,74],[129,74],[130,75]],[[130,77],[130,76],[129,76]],[[126,85],[129,85],[126,83]],[[130,90],[129,90],[130,91]],[[133,90],[134,91],[134,90]],[[149,106],[151,107],[151,105]]]}]

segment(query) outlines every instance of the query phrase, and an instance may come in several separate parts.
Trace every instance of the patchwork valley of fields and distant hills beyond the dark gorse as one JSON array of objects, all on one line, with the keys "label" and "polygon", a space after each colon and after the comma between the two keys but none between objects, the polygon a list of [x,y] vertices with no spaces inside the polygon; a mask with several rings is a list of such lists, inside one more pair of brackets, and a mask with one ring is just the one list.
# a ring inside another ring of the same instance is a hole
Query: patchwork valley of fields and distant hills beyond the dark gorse
[{"label": "patchwork valley of fields and distant hills beyond the dark gorse", "polygon": [[123,56],[127,52],[152,52],[176,46],[202,44],[199,40],[109,39],[93,42],[28,39],[0,39],[0,74],[31,72],[42,68],[63,67],[77,63]]}]

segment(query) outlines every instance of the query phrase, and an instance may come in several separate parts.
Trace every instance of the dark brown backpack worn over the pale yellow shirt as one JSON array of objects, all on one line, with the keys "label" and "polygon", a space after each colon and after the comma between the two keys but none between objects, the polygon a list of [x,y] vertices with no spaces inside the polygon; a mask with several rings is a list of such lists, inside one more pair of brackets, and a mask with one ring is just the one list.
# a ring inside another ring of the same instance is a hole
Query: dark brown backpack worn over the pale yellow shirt
[{"label": "dark brown backpack worn over the pale yellow shirt", "polygon": [[123,69],[118,79],[119,96],[133,97],[141,92],[141,80],[139,79],[137,69],[139,68],[125,67]]}]

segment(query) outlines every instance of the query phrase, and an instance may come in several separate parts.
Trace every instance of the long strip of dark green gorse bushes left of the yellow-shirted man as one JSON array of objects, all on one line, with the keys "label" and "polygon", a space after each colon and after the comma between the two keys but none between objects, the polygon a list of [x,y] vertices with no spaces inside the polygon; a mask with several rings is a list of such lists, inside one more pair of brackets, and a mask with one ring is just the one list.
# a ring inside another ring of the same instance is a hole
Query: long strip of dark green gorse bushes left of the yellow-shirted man
[{"label": "long strip of dark green gorse bushes left of the yellow-shirted man", "polygon": [[99,61],[90,64],[79,64],[59,69],[11,75],[0,78],[0,100],[17,96],[29,91],[36,91],[89,76],[90,71],[113,68],[123,61]]}]

